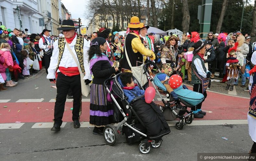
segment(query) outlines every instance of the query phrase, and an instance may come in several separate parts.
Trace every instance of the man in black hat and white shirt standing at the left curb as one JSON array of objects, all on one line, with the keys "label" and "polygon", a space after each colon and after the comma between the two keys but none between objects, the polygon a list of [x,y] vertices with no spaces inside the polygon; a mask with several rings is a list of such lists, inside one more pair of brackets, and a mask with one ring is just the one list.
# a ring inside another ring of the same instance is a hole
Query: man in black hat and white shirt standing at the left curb
[{"label": "man in black hat and white shirt standing at the left curb", "polygon": [[44,66],[47,74],[53,53],[53,40],[50,38],[50,32],[51,30],[47,30],[46,28],[43,29],[43,36],[39,40],[39,48],[43,49]]}]

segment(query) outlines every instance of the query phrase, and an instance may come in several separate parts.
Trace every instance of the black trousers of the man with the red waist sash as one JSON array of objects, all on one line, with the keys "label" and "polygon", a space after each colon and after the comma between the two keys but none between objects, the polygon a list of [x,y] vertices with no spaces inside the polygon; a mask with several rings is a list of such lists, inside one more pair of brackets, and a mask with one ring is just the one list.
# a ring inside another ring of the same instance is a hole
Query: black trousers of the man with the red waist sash
[{"label": "black trousers of the man with the red waist sash", "polygon": [[74,99],[72,120],[79,120],[79,110],[82,105],[80,74],[75,76],[66,76],[61,72],[58,72],[56,87],[57,96],[54,107],[54,122],[60,125],[62,124],[62,117],[64,113],[65,102],[69,88],[72,90]]}]

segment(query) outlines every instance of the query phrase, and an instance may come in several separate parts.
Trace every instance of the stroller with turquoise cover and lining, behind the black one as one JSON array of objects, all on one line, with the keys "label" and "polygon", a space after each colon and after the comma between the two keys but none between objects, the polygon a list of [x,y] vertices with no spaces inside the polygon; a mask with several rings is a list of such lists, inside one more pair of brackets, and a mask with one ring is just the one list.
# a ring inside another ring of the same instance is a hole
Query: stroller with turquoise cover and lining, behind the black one
[{"label": "stroller with turquoise cover and lining, behind the black one", "polygon": [[[185,123],[191,124],[194,119],[192,111],[189,112],[187,108],[195,107],[197,104],[203,101],[204,97],[201,93],[198,93],[199,95],[201,94],[198,98],[194,98],[193,95],[191,97],[191,94],[194,94],[191,93],[193,91],[188,90],[187,93],[185,93],[185,90],[181,90],[179,88],[177,90],[174,89],[174,91],[179,97],[179,100],[175,101],[174,98],[170,95],[170,93],[167,92],[162,82],[156,76],[153,77],[152,72],[150,70],[150,66],[154,66],[159,71],[159,73],[161,73],[161,70],[152,61],[147,62],[143,67],[144,74],[146,74],[148,81],[151,81],[153,87],[156,90],[156,93],[159,95],[161,101],[164,103],[164,106],[160,106],[160,109],[163,111],[166,120],[175,120],[178,118],[179,121],[175,124],[175,127],[178,130],[182,130]],[[164,93],[166,94],[166,102],[162,95],[160,94],[160,92],[157,90],[157,87],[160,90],[164,91]]]}]

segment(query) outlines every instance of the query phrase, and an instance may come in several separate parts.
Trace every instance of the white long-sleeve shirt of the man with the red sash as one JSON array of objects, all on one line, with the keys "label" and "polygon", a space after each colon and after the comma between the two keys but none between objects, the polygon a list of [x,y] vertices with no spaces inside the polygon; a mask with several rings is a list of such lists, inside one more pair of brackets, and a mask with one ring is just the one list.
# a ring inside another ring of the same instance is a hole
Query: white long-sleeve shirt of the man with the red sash
[{"label": "white long-sleeve shirt of the man with the red sash", "polygon": [[[73,53],[75,54],[75,56],[77,58],[77,54],[76,54],[76,50],[75,50],[76,41],[77,41],[77,36],[73,39],[73,41],[70,44],[65,43],[66,45],[65,45],[65,48],[63,51],[62,58],[60,60],[59,67],[64,67],[64,68],[77,67],[76,62],[73,59],[73,56],[71,55],[71,53],[69,52],[69,50],[67,48],[67,45],[69,45],[70,49],[73,51]],[[55,71],[56,71],[58,59],[59,59],[58,42],[59,42],[59,39],[53,43],[54,49],[53,49],[53,55],[52,55],[51,61],[50,61],[50,66],[48,68],[48,74],[46,77],[47,79],[55,79]],[[89,55],[87,53],[89,48],[90,48],[89,42],[84,39],[84,45],[83,45],[83,62],[84,62],[84,70],[85,70],[85,76],[83,78],[84,80],[86,80],[86,79],[92,80],[92,77],[90,74],[90,64],[88,62]],[[79,62],[78,58],[77,58],[77,61]],[[57,72],[59,72],[59,70],[57,70]]]}]

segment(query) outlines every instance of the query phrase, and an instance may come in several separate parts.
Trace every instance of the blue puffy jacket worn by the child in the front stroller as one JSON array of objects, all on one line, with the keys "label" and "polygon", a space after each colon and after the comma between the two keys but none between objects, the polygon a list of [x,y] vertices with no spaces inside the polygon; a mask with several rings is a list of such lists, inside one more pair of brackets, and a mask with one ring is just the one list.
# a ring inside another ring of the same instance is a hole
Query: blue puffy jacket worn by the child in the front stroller
[{"label": "blue puffy jacket worn by the child in the front stroller", "polygon": [[[120,84],[121,88],[125,87],[122,84],[122,81],[120,79],[120,77],[118,77],[118,83]],[[135,86],[132,90],[125,90],[124,91],[124,95],[128,98],[127,101],[130,103],[135,97],[141,96],[145,93],[144,90],[141,90],[138,86]],[[136,93],[137,96],[135,96],[133,93]],[[143,98],[144,99],[144,98]]]}]

